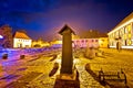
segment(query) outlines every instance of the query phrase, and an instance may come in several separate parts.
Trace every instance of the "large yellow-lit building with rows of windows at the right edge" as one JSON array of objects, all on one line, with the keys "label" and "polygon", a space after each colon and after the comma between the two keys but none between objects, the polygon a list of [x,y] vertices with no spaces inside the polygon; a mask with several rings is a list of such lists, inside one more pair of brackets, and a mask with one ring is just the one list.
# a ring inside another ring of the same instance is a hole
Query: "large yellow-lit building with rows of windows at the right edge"
[{"label": "large yellow-lit building with rows of windows at the right edge", "polygon": [[122,48],[133,48],[133,12],[122,20],[108,35],[110,47],[116,47],[119,43]]}]

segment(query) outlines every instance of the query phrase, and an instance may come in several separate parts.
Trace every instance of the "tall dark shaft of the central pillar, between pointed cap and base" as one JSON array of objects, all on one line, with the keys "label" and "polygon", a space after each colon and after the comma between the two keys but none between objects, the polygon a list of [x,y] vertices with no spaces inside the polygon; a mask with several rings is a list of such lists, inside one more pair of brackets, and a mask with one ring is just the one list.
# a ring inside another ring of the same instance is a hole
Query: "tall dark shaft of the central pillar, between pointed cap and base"
[{"label": "tall dark shaft of the central pillar, between pointed cap and base", "polygon": [[72,38],[71,33],[63,34],[61,74],[72,74]]}]

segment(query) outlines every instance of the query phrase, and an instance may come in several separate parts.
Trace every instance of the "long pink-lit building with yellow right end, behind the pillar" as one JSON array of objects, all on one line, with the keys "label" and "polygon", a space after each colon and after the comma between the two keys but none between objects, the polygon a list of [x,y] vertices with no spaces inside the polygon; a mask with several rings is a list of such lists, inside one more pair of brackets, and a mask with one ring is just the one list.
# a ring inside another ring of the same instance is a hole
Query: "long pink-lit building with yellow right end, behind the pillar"
[{"label": "long pink-lit building with yellow right end, behind the pillar", "polygon": [[96,30],[89,30],[81,33],[80,38],[73,40],[78,47],[108,47],[108,35]]}]

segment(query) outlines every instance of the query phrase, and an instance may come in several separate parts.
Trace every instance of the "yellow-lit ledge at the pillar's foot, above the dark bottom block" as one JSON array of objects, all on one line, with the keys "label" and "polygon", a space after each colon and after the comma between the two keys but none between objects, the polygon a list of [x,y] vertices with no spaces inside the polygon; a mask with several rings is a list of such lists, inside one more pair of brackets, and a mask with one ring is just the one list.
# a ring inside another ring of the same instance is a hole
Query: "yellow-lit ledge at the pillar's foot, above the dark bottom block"
[{"label": "yellow-lit ledge at the pillar's foot, above the dark bottom block", "polygon": [[72,74],[60,74],[57,75],[57,79],[62,79],[62,80],[75,80],[78,77],[78,70],[73,69]]}]

